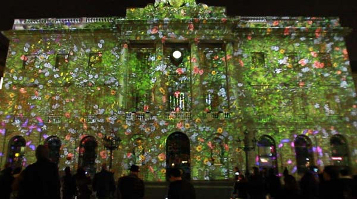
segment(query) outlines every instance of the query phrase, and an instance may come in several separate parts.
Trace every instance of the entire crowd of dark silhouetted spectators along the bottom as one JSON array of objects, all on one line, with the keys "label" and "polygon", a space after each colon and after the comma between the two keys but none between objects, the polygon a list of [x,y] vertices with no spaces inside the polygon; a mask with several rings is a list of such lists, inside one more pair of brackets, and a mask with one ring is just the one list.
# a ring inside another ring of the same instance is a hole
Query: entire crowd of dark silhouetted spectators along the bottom
[{"label": "entire crowd of dark silhouetted spectators along the bottom", "polygon": [[[115,185],[114,174],[102,164],[101,171],[91,179],[83,168],[75,175],[70,167],[59,177],[58,168],[49,160],[49,150],[43,145],[36,148],[34,164],[21,168],[9,165],[0,174],[0,195],[4,199],[143,199],[144,182],[138,177],[139,167],[131,165],[130,174],[119,178]],[[182,179],[182,171],[168,171],[170,185],[167,199],[196,199],[193,185]],[[326,166],[322,172],[307,171],[299,182],[287,169],[279,177],[274,169],[252,168],[248,177],[235,168],[231,199],[357,199],[357,177],[352,178],[347,168]]]}]

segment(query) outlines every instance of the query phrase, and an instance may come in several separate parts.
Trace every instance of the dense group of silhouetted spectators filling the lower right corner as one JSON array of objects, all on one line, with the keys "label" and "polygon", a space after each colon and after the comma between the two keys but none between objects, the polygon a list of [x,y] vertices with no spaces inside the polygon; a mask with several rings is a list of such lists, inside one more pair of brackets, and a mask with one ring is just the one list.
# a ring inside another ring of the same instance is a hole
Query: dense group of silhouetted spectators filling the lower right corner
[{"label": "dense group of silhouetted spectators filling the lower right corner", "polygon": [[272,168],[253,167],[248,178],[238,173],[232,199],[357,199],[357,176],[352,178],[347,168],[330,165],[319,172],[315,167],[299,182],[287,169],[282,177]]}]

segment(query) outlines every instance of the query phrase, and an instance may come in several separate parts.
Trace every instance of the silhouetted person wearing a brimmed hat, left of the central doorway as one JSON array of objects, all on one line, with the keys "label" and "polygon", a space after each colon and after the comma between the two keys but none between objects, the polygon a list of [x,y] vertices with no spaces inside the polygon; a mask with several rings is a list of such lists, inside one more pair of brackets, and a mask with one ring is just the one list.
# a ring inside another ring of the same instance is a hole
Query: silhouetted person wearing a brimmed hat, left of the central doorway
[{"label": "silhouetted person wearing a brimmed hat, left of the central doorway", "polygon": [[130,174],[118,180],[118,199],[144,198],[144,182],[138,177],[139,167],[131,165]]}]

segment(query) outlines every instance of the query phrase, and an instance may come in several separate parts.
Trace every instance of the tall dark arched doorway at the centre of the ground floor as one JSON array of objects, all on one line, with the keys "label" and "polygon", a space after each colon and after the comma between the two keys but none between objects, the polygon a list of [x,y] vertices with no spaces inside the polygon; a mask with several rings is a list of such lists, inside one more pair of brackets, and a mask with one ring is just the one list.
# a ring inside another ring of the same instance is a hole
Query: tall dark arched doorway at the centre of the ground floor
[{"label": "tall dark arched doorway at the centre of the ground floor", "polygon": [[182,178],[191,179],[190,140],[186,134],[175,132],[166,139],[166,179],[171,168],[182,170]]}]

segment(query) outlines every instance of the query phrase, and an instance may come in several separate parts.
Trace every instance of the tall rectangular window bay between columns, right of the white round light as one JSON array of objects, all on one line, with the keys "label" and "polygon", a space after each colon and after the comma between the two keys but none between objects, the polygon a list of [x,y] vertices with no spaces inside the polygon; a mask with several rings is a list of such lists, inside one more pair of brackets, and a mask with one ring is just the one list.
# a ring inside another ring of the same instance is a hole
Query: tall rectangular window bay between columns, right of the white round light
[{"label": "tall rectangular window bay between columns, right of the white round light", "polygon": [[[201,44],[199,52],[203,74],[203,103],[206,111],[228,109],[226,53],[223,44]],[[195,68],[194,68],[195,70]]]}]

